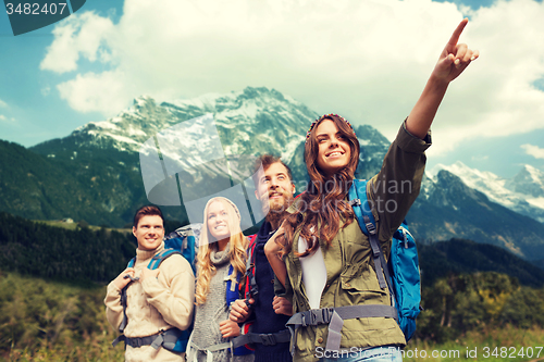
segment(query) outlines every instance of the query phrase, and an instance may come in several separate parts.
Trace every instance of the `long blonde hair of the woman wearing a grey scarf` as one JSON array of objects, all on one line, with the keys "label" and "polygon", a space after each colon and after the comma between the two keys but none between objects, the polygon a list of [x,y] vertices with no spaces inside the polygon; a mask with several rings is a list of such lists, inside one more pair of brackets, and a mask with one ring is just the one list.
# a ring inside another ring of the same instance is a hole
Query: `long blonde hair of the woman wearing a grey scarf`
[{"label": "long blonde hair of the woman wearing a grey scarf", "polygon": [[212,198],[208,201],[205,208],[203,225],[198,247],[197,286],[195,292],[196,304],[206,303],[208,292],[210,291],[211,277],[215,275],[217,272],[215,265],[211,263],[210,254],[212,250],[218,250],[218,242],[215,242],[217,239],[210,234],[210,229],[208,227],[208,209],[213,202],[222,203],[227,214],[228,229],[231,232],[231,237],[228,239],[228,254],[231,264],[234,269],[233,274],[231,275],[231,280],[235,282],[238,273],[244,275],[246,272],[246,249],[248,240],[244,234],[242,234],[238,208],[226,198]]}]

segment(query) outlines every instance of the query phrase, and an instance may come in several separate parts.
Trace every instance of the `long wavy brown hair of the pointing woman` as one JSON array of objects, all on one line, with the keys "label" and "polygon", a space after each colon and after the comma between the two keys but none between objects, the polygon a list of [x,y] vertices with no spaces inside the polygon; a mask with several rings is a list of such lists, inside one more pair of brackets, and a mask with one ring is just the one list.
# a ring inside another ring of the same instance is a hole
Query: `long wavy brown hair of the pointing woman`
[{"label": "long wavy brown hair of the pointing woman", "polygon": [[[317,129],[319,124],[325,120],[334,122],[351,151],[348,164],[330,177],[325,176],[317,163],[319,154]],[[343,117],[336,114],[326,114],[316,121],[305,146],[305,161],[310,183],[306,192],[300,195],[296,202],[297,212],[287,217],[285,239],[281,242],[283,254],[290,251],[294,232],[297,227],[300,228],[300,236],[307,240],[308,249],[302,253],[296,252],[296,254],[306,257],[318,248],[319,239],[324,239],[330,246],[339,230],[341,222],[344,223],[345,227],[354,221],[354,211],[344,199],[351,186],[359,163],[359,140],[349,123]]]}]

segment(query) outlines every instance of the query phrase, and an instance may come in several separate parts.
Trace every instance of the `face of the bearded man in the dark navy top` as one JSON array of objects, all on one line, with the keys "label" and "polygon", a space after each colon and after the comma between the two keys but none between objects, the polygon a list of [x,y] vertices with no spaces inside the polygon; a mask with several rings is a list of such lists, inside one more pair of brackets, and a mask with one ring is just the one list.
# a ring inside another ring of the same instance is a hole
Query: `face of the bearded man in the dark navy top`
[{"label": "face of the bearded man in the dark navy top", "polygon": [[263,203],[267,214],[271,211],[284,211],[293,202],[295,185],[289,179],[287,168],[280,162],[274,162],[259,177],[259,186],[255,196]]}]

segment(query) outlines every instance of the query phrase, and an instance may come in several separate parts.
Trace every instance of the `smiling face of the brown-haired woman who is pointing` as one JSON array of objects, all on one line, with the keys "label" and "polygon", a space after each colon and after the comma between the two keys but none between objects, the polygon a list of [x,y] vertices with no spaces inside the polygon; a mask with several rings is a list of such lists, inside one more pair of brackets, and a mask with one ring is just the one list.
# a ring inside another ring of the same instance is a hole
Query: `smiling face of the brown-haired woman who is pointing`
[{"label": "smiling face of the brown-haired woman who is pointing", "polygon": [[330,177],[349,163],[351,149],[347,138],[331,120],[321,122],[316,135],[319,146],[317,164]]}]

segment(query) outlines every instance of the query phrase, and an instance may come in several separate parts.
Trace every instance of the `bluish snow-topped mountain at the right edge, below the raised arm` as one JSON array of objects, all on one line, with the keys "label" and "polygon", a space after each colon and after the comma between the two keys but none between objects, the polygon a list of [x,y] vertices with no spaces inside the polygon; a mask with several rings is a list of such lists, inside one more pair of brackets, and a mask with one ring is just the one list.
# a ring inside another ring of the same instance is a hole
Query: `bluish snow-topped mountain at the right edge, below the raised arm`
[{"label": "bluish snow-topped mountain at the right edge, below the raised arm", "polygon": [[447,170],[425,183],[424,195],[407,216],[419,240],[468,239],[496,245],[524,259],[544,259],[543,223],[492,201]]}]

